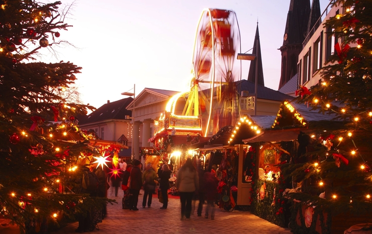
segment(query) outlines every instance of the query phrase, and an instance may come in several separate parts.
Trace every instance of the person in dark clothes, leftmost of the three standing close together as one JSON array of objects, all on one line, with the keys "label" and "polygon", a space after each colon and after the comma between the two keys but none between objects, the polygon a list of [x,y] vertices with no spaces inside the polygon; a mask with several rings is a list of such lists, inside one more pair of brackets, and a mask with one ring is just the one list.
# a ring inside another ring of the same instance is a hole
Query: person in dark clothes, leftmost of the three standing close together
[{"label": "person in dark clothes, leftmost of the three standing close together", "polygon": [[138,195],[140,194],[140,190],[142,188],[142,171],[140,169],[141,162],[136,160],[134,162],[134,167],[130,171],[130,195],[132,198],[130,199],[129,210],[138,211],[137,203],[138,203]]}]

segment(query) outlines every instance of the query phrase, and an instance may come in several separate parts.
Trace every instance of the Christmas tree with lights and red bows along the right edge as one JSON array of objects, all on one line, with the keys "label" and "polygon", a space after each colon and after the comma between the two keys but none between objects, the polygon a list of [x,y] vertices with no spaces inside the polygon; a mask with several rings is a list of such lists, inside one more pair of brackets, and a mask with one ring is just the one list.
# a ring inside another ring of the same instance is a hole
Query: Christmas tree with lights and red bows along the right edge
[{"label": "Christmas tree with lights and red bows along the right edge", "polygon": [[[323,82],[309,90],[301,87],[298,93],[303,97],[296,101],[307,103],[314,111],[331,113],[335,119],[310,123],[312,139],[305,140],[311,147],[302,156],[305,160],[299,160],[306,162],[281,168],[291,172],[287,180],[302,182],[303,192],[291,191],[287,197],[311,204],[318,214],[370,215],[372,2],[339,0],[334,4],[343,6],[343,13],[325,23],[325,28],[332,28],[327,37],[336,38],[334,54],[321,70]],[[330,221],[328,218],[326,224]],[[323,226],[326,233],[329,228]]]}]

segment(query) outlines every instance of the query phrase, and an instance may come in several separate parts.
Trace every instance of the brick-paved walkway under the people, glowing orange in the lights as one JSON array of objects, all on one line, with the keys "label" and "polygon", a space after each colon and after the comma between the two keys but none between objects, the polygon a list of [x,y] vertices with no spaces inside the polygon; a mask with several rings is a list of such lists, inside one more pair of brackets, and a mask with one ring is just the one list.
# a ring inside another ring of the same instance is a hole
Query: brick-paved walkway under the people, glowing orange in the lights
[{"label": "brick-paved walkway under the people, glowing orange in the lights", "polygon": [[[141,191],[143,194],[143,191]],[[196,212],[190,220],[180,220],[181,204],[179,199],[169,199],[168,209],[161,210],[162,203],[155,197],[152,199],[151,208],[142,208],[142,198],[139,196],[139,211],[123,210],[121,205],[122,191],[115,197],[112,188],[109,198],[116,199],[118,203],[108,204],[108,216],[99,223],[99,230],[85,233],[291,233],[289,229],[279,227],[261,219],[248,211],[227,212],[216,209],[215,220],[198,217]],[[196,202],[198,203],[198,201]],[[75,233],[77,222],[53,233]]]}]

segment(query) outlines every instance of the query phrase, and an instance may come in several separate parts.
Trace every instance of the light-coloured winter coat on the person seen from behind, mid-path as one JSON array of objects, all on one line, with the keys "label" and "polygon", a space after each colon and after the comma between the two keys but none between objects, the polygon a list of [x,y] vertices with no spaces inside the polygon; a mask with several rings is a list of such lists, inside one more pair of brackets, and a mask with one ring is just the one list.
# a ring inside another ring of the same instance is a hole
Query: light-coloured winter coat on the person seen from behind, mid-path
[{"label": "light-coloured winter coat on the person seen from behind, mid-path", "polygon": [[180,168],[177,173],[176,188],[179,192],[195,192],[199,189],[199,177],[196,170]]}]

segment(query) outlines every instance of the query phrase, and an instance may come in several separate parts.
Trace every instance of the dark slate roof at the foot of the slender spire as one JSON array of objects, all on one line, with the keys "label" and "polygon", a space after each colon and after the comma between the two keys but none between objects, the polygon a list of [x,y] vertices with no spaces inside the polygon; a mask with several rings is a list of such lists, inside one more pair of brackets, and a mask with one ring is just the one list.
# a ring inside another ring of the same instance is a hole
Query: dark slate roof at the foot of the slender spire
[{"label": "dark slate roof at the foot of the slender spire", "polygon": [[[236,81],[236,91],[238,94],[242,94],[242,91],[248,91],[250,94],[254,94],[255,84],[248,80]],[[280,93],[279,91],[272,90],[268,87],[257,85],[257,98],[266,99],[272,101],[284,101],[293,100],[294,97]]]}]

